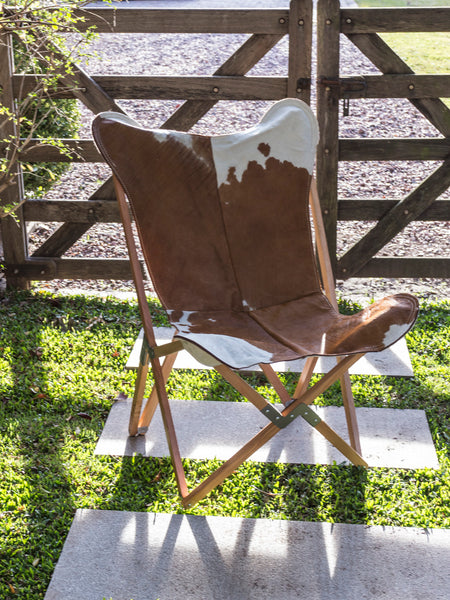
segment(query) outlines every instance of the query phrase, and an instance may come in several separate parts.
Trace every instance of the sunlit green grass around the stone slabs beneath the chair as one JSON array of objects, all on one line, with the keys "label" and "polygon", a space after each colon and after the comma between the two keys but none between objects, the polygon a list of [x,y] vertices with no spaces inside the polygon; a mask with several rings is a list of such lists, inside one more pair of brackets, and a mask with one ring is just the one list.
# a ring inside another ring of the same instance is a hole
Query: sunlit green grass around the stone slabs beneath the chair
[{"label": "sunlit green grass around the stone slabs beneath the chair", "polygon": [[[353,310],[352,306],[343,306]],[[164,312],[154,304],[158,323]],[[167,459],[94,456],[139,330],[134,303],[19,292],[0,298],[0,598],[42,599],[78,508],[183,512]],[[450,527],[450,302],[408,335],[415,376],[352,377],[357,405],[426,411],[440,470],[248,462],[190,513]],[[249,381],[266,392],[260,375]],[[292,376],[286,376],[294,386]],[[179,371],[170,395],[240,401],[214,373]],[[340,404],[339,387],[320,404]],[[185,461],[189,483],[217,461]]]}]

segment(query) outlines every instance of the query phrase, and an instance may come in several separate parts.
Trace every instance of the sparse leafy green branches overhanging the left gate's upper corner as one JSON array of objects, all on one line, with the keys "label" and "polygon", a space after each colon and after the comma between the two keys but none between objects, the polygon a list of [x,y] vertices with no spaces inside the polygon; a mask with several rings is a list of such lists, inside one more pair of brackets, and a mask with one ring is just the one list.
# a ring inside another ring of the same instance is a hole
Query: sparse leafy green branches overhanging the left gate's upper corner
[{"label": "sparse leafy green branches overhanging the left gate's upper corner", "polygon": [[[0,105],[2,133],[0,144],[0,217],[18,208],[11,202],[9,189],[17,184],[19,155],[32,143],[57,146],[69,154],[54,137],[74,137],[79,112],[75,100],[61,100],[56,90],[64,81],[74,87],[64,75],[73,75],[74,62],[81,58],[93,31],[80,32],[84,22],[81,0],[62,4],[40,0],[14,0],[0,12],[0,43],[13,40],[15,72],[23,75],[16,84],[25,84],[25,76],[34,75],[33,88],[21,93],[14,106]],[[78,12],[77,12],[78,11]],[[44,192],[65,167],[61,164],[24,163],[26,189],[35,194]]]}]

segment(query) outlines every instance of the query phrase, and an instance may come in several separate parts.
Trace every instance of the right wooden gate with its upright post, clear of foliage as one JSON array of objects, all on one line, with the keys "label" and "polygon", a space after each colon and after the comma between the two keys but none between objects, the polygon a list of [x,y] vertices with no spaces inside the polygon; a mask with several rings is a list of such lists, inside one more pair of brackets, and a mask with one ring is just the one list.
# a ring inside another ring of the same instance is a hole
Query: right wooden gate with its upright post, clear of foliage
[{"label": "right wooden gate with its upright post, clear of foliage", "polygon": [[[414,220],[450,219],[450,201],[436,200],[450,185],[450,75],[416,75],[382,40],[384,32],[450,31],[450,8],[341,9],[338,0],[318,0],[317,113],[321,141],[318,186],[330,253],[336,255],[338,220],[377,221],[336,260],[335,273],[349,277],[450,277],[450,258],[376,258]],[[339,47],[345,35],[381,75],[341,77]],[[428,139],[339,139],[339,101],[407,98],[442,134]],[[402,200],[338,199],[339,161],[442,161]]]}]

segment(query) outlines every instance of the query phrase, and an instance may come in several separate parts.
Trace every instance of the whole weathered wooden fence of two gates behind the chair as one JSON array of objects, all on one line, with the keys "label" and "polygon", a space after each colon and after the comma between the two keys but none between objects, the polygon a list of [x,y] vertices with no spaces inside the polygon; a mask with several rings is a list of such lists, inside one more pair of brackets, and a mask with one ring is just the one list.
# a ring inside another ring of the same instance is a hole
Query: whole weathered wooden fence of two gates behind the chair
[{"label": "whole weathered wooden fence of two gates behind the chair", "polygon": [[[86,27],[96,25],[102,33],[221,33],[249,34],[244,44],[211,77],[91,77],[74,66],[61,79],[60,97],[76,97],[94,114],[122,109],[116,99],[179,99],[185,102],[162,125],[189,130],[219,100],[278,100],[297,97],[310,101],[312,2],[292,0],[285,9],[133,9],[96,8]],[[450,277],[450,259],[373,258],[401,228],[413,219],[447,220],[449,201],[435,199],[450,184],[448,168],[450,120],[447,107],[438,99],[449,95],[449,76],[414,75],[376,32],[448,31],[450,9],[340,9],[337,0],[319,0],[318,119],[321,142],[317,177],[327,237],[332,253],[336,247],[338,219],[376,220],[378,225],[336,262],[337,275],[386,277]],[[386,75],[342,78],[339,73],[339,38],[347,35]],[[289,38],[288,72],[284,77],[253,77],[246,73],[284,36]],[[363,85],[361,85],[361,82]],[[12,106],[19,90],[26,93],[32,78],[15,73],[10,40],[0,44],[1,102]],[[69,90],[69,91],[68,91]],[[339,99],[358,97],[406,97],[438,127],[444,138],[430,140],[339,140]],[[0,117],[1,118],[1,117]],[[11,134],[16,135],[12,125]],[[66,140],[73,148],[72,161],[102,161],[92,140]],[[402,201],[338,200],[339,160],[442,160],[442,166],[415,192]],[[23,162],[69,160],[55,147],[36,140],[20,157]],[[22,199],[20,179],[9,190],[9,201]],[[27,249],[26,222],[60,222],[62,225],[31,255]],[[44,279],[130,279],[126,259],[70,259],[63,254],[95,223],[119,221],[111,180],[88,200],[32,200],[18,211],[18,224],[2,219],[4,262],[8,285],[26,287]]]}]

